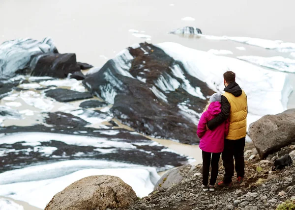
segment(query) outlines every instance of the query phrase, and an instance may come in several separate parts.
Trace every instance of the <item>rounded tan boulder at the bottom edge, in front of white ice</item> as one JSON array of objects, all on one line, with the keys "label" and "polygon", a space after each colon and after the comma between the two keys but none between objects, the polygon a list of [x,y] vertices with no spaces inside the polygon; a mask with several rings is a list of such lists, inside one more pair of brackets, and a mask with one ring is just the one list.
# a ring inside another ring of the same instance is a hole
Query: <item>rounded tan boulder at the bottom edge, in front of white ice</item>
[{"label": "rounded tan boulder at the bottom edge, in front of white ice", "polygon": [[45,210],[125,208],[137,200],[132,187],[115,176],[89,176],[57,193]]}]

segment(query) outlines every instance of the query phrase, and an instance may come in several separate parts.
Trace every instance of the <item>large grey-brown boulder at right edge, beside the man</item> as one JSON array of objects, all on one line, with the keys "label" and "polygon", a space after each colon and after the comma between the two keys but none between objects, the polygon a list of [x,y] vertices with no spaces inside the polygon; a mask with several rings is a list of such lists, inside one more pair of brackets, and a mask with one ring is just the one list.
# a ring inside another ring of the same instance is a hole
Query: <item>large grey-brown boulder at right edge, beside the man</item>
[{"label": "large grey-brown boulder at right edge, beside the man", "polygon": [[252,123],[248,133],[261,158],[295,142],[295,109],[266,115]]}]

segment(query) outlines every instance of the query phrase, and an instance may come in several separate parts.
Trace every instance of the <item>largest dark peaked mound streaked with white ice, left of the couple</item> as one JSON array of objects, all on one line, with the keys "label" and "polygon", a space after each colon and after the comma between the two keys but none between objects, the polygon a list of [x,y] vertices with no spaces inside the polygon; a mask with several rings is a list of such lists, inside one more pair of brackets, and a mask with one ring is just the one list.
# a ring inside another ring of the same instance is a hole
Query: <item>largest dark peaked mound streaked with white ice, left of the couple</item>
[{"label": "largest dark peaked mound streaked with white ice, left of the couple", "polygon": [[[92,94],[114,104],[111,111],[123,124],[186,144],[199,142],[198,119],[206,98],[214,93],[205,82],[190,76],[182,63],[147,43],[128,48],[83,83]],[[199,88],[203,96],[192,95],[188,85]]]}]

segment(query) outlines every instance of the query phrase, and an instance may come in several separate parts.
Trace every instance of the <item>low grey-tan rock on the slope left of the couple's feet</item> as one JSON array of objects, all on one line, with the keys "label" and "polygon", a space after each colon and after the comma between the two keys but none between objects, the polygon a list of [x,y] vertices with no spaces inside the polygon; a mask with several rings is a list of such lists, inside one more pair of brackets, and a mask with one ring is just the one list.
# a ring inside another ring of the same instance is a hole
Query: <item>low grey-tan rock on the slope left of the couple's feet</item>
[{"label": "low grey-tan rock on the slope left of the couple's feet", "polygon": [[200,167],[196,167],[195,170],[190,171],[191,167],[192,165],[188,164],[168,171],[157,182],[154,190],[159,190],[161,188],[168,189],[172,185],[180,183],[185,178],[190,177],[195,174],[196,171],[200,170]]}]

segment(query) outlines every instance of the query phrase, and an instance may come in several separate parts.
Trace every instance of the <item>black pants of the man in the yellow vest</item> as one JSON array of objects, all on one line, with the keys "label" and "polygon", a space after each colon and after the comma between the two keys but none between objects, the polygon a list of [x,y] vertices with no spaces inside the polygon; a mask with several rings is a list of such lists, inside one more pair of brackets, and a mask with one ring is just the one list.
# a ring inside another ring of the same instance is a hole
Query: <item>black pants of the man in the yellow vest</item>
[{"label": "black pants of the man in the yellow vest", "polygon": [[244,148],[246,137],[238,140],[224,140],[224,150],[222,153],[223,167],[225,175],[223,182],[229,184],[234,176],[234,157],[236,163],[236,177],[243,177],[245,172]]}]

